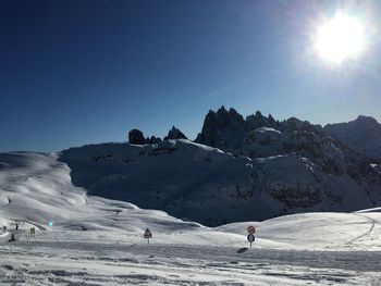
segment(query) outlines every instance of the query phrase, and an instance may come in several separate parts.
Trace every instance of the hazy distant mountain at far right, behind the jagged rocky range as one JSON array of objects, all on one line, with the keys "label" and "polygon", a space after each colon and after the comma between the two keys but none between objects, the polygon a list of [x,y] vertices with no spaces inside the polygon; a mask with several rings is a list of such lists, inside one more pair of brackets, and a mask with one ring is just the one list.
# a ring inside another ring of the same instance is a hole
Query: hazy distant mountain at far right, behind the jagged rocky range
[{"label": "hazy distant mountain at far right, behind the jagged rocky range", "polygon": [[381,160],[381,124],[360,115],[354,121],[328,124],[324,132],[372,159]]}]

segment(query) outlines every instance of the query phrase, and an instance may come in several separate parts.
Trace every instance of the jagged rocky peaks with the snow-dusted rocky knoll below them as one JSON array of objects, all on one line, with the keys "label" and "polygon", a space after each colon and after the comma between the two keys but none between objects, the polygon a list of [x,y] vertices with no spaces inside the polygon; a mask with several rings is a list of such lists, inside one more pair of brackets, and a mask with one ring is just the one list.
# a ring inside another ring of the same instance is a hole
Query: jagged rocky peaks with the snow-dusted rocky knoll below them
[{"label": "jagged rocky peaks with the snow-dusted rocky knoll below them", "polygon": [[209,111],[196,141],[250,158],[257,163],[253,185],[282,200],[285,212],[316,208],[324,198],[329,203],[321,208],[329,210],[360,192],[367,194],[369,204],[380,199],[378,167],[361,152],[328,136],[320,125],[295,117],[279,122],[259,111],[244,119],[222,107]]}]

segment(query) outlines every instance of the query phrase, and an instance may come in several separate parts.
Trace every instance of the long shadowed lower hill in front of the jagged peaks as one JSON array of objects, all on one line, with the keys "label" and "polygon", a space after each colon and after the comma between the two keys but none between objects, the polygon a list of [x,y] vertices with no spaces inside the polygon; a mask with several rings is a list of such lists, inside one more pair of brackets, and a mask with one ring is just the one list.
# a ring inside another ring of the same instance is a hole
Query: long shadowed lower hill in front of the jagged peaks
[{"label": "long shadowed lower hill in front of the jagged peaks", "polygon": [[89,145],[64,150],[59,160],[72,170],[74,185],[91,195],[208,226],[306,211],[355,211],[378,206],[381,197],[377,181],[367,186],[346,174],[327,174],[300,154],[251,160],[182,139]]}]

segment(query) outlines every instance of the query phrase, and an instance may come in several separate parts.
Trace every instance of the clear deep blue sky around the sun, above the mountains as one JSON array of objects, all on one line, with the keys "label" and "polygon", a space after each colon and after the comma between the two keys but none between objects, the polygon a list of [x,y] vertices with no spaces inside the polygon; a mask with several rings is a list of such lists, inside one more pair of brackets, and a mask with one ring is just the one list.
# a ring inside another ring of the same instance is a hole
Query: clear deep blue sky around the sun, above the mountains
[{"label": "clear deep blue sky around the sun, above the mountains", "polygon": [[[310,52],[337,9],[373,29],[369,50],[340,67]],[[377,1],[0,1],[0,151],[124,141],[135,127],[194,139],[222,104],[381,121],[380,12]]]}]

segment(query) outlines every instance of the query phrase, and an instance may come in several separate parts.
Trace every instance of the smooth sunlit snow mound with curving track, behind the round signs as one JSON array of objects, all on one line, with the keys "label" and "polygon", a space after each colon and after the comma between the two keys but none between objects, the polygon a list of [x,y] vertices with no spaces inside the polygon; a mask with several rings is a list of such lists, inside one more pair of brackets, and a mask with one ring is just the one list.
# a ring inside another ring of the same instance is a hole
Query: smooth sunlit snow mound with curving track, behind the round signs
[{"label": "smooth sunlit snow mound with curving track, behind the round signs", "polygon": [[263,222],[232,223],[217,227],[242,234],[257,228],[260,244],[279,249],[381,251],[381,208],[353,213],[316,212],[279,216]]}]

